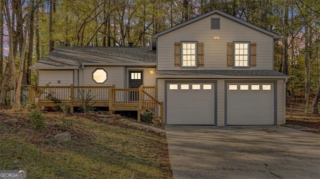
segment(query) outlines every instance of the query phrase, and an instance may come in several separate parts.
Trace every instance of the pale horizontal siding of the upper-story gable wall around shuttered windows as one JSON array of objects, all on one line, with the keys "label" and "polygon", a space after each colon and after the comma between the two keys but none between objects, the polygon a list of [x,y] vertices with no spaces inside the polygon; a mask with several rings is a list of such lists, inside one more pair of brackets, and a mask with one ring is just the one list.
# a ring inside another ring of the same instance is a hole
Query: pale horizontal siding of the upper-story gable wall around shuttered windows
[{"label": "pale horizontal siding of the upper-story gable wall around shuttered windows", "polygon": [[[220,18],[220,29],[210,29],[210,18]],[[214,40],[213,37],[219,37]],[[192,40],[204,43],[204,67],[202,69],[232,69],[226,67],[226,43],[232,41],[256,42],[256,67],[250,69],[272,69],[273,38],[243,26],[217,14],[205,17],[187,26],[158,37],[157,69],[180,70],[174,67],[174,42]],[[183,68],[185,70],[185,68]]]}]

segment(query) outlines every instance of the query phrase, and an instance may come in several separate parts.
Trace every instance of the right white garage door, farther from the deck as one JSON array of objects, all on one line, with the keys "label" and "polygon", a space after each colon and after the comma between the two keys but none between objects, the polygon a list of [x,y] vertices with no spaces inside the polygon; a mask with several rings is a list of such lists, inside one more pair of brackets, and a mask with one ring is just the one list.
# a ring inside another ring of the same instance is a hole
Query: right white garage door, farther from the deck
[{"label": "right white garage door, farther from the deck", "polygon": [[273,125],[272,83],[228,83],[227,125]]}]

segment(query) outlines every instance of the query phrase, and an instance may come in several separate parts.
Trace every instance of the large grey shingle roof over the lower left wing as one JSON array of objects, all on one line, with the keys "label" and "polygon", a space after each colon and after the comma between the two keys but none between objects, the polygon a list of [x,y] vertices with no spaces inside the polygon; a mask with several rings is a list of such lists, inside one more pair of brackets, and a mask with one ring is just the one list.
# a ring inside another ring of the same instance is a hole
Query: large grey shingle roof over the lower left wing
[{"label": "large grey shingle roof over the lower left wing", "polygon": [[81,63],[155,64],[155,50],[149,47],[66,47],[60,46],[41,58],[31,69],[78,67]]}]

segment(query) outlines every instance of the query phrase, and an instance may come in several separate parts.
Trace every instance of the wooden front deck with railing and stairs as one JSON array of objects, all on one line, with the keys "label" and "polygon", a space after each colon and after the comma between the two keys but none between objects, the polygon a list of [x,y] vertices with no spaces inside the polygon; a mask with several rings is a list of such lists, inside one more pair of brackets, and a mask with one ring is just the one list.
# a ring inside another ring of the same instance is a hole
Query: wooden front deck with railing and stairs
[{"label": "wooden front deck with railing and stairs", "polygon": [[54,107],[68,104],[73,108],[79,106],[82,100],[91,98],[94,107],[108,107],[109,112],[137,111],[140,115],[151,112],[155,120],[163,126],[163,102],[157,100],[156,86],[140,86],[139,88],[115,88],[112,86],[29,86],[29,100],[34,100],[37,106]]}]

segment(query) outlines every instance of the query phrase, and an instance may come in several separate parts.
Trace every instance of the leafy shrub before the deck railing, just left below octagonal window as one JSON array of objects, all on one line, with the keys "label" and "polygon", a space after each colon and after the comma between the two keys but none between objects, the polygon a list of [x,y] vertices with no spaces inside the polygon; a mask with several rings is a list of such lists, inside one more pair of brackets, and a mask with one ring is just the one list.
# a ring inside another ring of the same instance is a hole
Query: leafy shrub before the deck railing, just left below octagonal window
[{"label": "leafy shrub before the deck railing, just left below octagonal window", "polygon": [[85,93],[85,91],[83,89],[82,90],[78,90],[78,91],[79,91],[79,96],[78,96],[77,100],[80,102],[78,108],[86,116],[86,114],[89,111],[93,111],[94,110],[94,108],[92,106],[95,103],[95,102],[92,102],[94,96],[93,97],[91,96],[91,90],[88,90],[86,93]]}]

